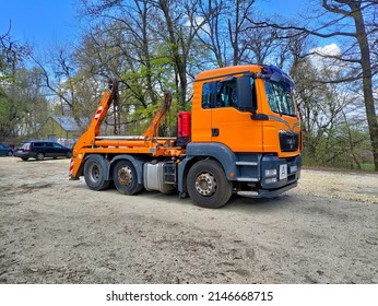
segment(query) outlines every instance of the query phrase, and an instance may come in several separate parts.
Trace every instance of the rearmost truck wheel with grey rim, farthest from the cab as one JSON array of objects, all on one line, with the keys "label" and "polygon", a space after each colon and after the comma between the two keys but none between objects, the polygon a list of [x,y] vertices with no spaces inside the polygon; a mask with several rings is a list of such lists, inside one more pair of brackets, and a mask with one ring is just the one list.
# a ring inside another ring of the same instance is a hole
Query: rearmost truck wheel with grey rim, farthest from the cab
[{"label": "rearmost truck wheel with grey rim, farthest from the cab", "polygon": [[106,164],[102,156],[91,156],[84,164],[84,179],[86,186],[92,190],[104,190],[109,187],[106,180]]}]

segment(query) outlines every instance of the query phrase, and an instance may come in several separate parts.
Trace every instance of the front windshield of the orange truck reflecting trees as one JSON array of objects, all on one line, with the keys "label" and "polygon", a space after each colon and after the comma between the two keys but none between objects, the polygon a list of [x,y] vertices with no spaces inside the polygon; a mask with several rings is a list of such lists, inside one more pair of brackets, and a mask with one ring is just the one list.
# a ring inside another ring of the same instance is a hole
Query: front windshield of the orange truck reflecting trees
[{"label": "front windshield of the orange truck reflecting trees", "polygon": [[291,86],[284,82],[265,80],[265,92],[270,109],[274,113],[296,116]]}]

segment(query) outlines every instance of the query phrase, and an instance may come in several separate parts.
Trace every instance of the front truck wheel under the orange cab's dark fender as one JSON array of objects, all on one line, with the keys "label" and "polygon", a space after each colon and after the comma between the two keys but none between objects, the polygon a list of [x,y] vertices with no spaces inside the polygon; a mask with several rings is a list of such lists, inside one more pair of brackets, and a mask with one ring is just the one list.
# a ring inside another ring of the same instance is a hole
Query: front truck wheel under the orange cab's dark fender
[{"label": "front truck wheel under the orange cab's dark fender", "polygon": [[218,162],[203,160],[189,169],[187,189],[190,199],[199,207],[223,207],[233,193],[233,184],[227,180]]}]

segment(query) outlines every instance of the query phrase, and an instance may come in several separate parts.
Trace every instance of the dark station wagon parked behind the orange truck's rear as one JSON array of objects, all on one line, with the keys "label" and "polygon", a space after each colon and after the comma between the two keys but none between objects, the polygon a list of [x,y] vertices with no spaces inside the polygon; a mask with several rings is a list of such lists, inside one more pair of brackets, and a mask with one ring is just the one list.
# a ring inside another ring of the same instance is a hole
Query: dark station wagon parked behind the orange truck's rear
[{"label": "dark station wagon parked behind the orange truck's rear", "polygon": [[45,157],[70,158],[72,156],[72,150],[54,141],[27,141],[14,151],[14,156],[25,162],[31,157],[37,161],[43,161]]}]

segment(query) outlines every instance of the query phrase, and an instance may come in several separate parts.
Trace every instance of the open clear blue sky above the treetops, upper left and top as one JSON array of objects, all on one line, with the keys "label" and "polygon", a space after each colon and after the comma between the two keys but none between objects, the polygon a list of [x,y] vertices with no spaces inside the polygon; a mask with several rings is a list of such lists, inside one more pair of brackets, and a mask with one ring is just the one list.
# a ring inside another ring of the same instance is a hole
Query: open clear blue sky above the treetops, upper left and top
[{"label": "open clear blue sky above the treetops, upper left and top", "polygon": [[[11,36],[35,48],[74,42],[80,27],[75,20],[79,0],[0,0],[0,35],[11,21]],[[304,0],[257,0],[264,13],[293,14]]]}]

